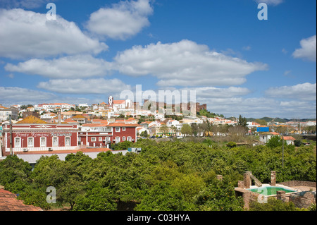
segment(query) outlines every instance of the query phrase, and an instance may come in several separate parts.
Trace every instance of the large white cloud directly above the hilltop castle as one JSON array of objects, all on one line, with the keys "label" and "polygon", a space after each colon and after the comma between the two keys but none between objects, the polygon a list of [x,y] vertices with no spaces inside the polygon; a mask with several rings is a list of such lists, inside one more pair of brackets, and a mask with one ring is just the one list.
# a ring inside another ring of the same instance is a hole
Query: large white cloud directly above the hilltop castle
[{"label": "large white cloud directly above the hilltop castle", "polygon": [[159,86],[240,85],[246,75],[268,67],[211,51],[206,45],[186,39],[135,46],[119,52],[113,63],[125,75],[154,75],[160,79]]}]

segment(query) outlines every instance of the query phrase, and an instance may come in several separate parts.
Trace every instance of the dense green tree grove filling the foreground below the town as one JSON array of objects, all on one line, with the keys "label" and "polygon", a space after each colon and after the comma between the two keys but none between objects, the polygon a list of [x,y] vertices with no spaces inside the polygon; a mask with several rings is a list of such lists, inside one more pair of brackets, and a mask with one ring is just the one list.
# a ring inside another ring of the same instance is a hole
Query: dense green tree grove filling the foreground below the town
[{"label": "dense green tree grove filling the foreground below the town", "polygon": [[[234,188],[245,171],[252,171],[262,183],[271,180],[273,170],[277,182],[316,181],[313,146],[285,145],[283,168],[280,146],[218,147],[208,139],[144,139],[118,145],[125,147],[142,147],[142,152],[125,156],[102,152],[96,159],[77,152],[65,161],[54,155],[39,159],[33,170],[10,156],[0,162],[0,183],[27,204],[44,209],[51,206],[46,203],[46,188],[53,186],[58,203],[73,210],[116,210],[119,202],[135,202],[135,210],[228,211],[243,210]],[[218,181],[218,174],[223,181]]]}]

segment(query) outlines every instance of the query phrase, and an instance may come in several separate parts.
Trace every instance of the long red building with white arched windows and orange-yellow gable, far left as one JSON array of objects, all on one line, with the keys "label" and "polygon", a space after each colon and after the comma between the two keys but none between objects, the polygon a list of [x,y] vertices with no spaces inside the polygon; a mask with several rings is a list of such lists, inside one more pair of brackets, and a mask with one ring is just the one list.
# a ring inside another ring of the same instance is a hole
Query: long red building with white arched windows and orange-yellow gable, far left
[{"label": "long red building with white arched windows and orange-yellow gable, far left", "polygon": [[[78,126],[67,123],[46,123],[35,116],[4,125],[2,155],[16,152],[78,150]],[[12,133],[12,137],[11,137]]]}]

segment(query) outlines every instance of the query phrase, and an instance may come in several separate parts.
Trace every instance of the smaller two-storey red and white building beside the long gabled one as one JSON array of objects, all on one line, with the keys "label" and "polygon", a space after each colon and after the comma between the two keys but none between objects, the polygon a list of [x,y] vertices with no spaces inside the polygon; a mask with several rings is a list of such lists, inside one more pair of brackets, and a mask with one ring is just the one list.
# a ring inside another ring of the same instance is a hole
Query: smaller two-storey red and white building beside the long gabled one
[{"label": "smaller two-storey red and white building beside the long gabled one", "polygon": [[132,123],[87,123],[78,133],[80,145],[109,147],[118,142],[137,141],[137,124]]}]

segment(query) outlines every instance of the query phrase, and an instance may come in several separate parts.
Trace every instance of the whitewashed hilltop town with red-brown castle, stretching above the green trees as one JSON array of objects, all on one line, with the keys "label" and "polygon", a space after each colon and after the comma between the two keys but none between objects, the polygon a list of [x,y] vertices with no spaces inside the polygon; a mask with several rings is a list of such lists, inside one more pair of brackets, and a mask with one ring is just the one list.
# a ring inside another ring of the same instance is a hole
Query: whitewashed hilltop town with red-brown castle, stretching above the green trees
[{"label": "whitewashed hilltop town with red-brown castle, stretching above the green trees", "polygon": [[[153,106],[157,107],[156,110]],[[113,97],[108,98],[108,103],[92,105],[0,106],[1,157],[12,152],[103,150],[120,142],[137,142],[139,138],[225,138],[230,135],[229,140],[244,142],[245,135],[253,135],[255,138],[251,144],[259,145],[265,144],[273,135],[284,135],[284,139],[294,145],[296,138],[291,135],[316,134],[316,120],[247,121],[241,115],[240,118],[225,118],[213,114],[207,110],[206,104],[186,104],[186,109],[192,111],[190,106],[194,107],[194,114],[186,116],[182,111],[175,113],[173,110],[175,107],[183,109],[182,104],[169,106],[144,100],[140,106],[138,102],[114,100]]]}]

